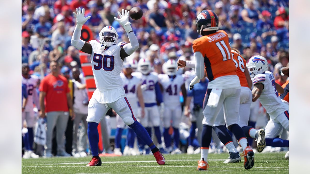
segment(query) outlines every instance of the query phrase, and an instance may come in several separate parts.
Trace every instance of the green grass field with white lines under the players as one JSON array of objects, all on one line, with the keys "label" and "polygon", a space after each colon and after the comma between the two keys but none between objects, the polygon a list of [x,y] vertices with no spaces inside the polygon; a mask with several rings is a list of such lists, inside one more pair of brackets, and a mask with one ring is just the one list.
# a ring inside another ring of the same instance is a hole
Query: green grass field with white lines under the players
[{"label": "green grass field with white lines under the players", "polygon": [[240,163],[224,164],[228,157],[227,153],[209,154],[208,171],[196,171],[197,160],[200,154],[188,155],[164,155],[165,165],[158,165],[153,155],[144,156],[121,156],[121,157],[101,157],[102,166],[86,167],[91,157],[54,157],[39,159],[22,159],[22,173],[288,173],[289,162],[284,159],[285,153],[255,153],[255,165],[250,170],[243,167],[243,158]]}]

